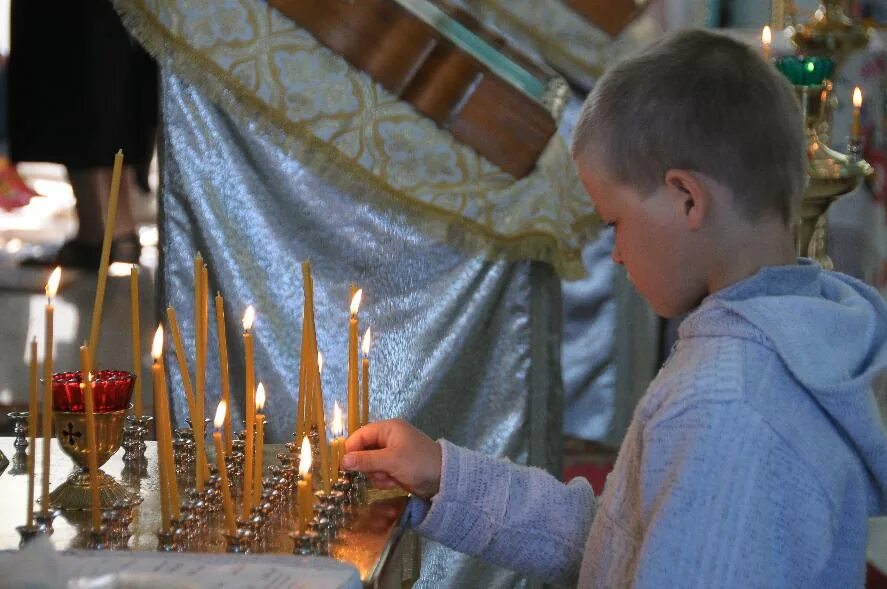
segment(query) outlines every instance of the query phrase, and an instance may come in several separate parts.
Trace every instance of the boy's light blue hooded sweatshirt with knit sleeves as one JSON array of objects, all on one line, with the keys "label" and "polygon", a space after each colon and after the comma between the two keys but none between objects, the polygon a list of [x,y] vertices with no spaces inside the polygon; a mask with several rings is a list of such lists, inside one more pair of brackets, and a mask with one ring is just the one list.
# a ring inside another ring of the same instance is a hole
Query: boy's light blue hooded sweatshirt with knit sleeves
[{"label": "boy's light blue hooded sweatshirt with knit sleeves", "polygon": [[809,260],[707,297],[635,411],[604,493],[445,440],[416,529],[580,587],[861,587],[887,514],[872,382],[887,306]]}]

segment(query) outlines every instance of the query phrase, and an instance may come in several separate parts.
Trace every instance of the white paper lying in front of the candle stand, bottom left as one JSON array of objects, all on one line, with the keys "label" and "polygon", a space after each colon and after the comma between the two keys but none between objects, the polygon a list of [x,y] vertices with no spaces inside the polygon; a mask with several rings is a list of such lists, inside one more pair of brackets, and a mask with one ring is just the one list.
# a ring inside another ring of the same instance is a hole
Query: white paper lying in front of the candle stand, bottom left
[{"label": "white paper lying in front of the candle stand, bottom left", "polygon": [[329,558],[159,552],[0,552],[0,589],[361,589],[357,569]]}]

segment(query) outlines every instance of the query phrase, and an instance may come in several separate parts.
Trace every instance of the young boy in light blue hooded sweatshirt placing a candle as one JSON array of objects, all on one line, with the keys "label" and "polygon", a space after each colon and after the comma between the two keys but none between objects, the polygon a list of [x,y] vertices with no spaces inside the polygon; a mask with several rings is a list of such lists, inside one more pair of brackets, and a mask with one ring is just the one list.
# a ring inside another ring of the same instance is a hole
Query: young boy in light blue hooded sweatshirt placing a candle
[{"label": "young boy in light blue hooded sweatshirt placing a candle", "polygon": [[795,258],[792,89],[753,49],[681,32],[600,80],[573,154],[613,259],[662,316],[693,310],[603,495],[402,421],[352,435],[346,467],[411,491],[420,533],[552,582],[861,586],[887,512],[887,308]]}]

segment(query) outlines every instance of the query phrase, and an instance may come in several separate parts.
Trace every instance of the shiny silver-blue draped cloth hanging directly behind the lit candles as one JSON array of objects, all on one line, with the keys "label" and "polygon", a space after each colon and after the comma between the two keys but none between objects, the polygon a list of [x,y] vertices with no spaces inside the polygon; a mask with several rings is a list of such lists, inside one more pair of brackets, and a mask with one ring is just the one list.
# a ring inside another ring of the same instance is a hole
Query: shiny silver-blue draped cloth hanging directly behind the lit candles
[{"label": "shiny silver-blue draped cloth hanging directly behind the lit candles", "polygon": [[[210,294],[225,297],[235,429],[242,427],[244,398],[240,318],[252,304],[256,378],[268,392],[267,439],[292,435],[299,263],[310,259],[327,412],[334,400],[345,401],[349,283],[355,281],[364,289],[361,333],[373,329],[371,419],[402,417],[434,438],[559,472],[560,282],[548,266],[486,261],[433,242],[397,212],[332,188],[279,143],[234,121],[169,71],[161,92],[159,306],[176,309],[193,354],[192,273],[199,250],[209,266]],[[208,416],[220,396],[210,317]],[[170,346],[166,359],[181,423],[186,403]],[[418,587],[525,583],[439,545],[425,546],[422,559]]]}]

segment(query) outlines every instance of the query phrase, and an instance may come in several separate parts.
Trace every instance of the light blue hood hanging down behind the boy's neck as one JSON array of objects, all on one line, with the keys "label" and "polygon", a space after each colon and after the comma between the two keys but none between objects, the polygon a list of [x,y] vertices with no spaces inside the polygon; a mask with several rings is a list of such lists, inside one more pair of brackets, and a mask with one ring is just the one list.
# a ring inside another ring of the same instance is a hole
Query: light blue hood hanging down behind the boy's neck
[{"label": "light blue hood hanging down behind the boy's neck", "polygon": [[[738,320],[711,320],[724,311]],[[887,432],[872,388],[887,371],[887,304],[878,291],[801,258],[710,295],[680,334],[763,336],[849,440],[869,473],[876,512],[887,512]]]}]

